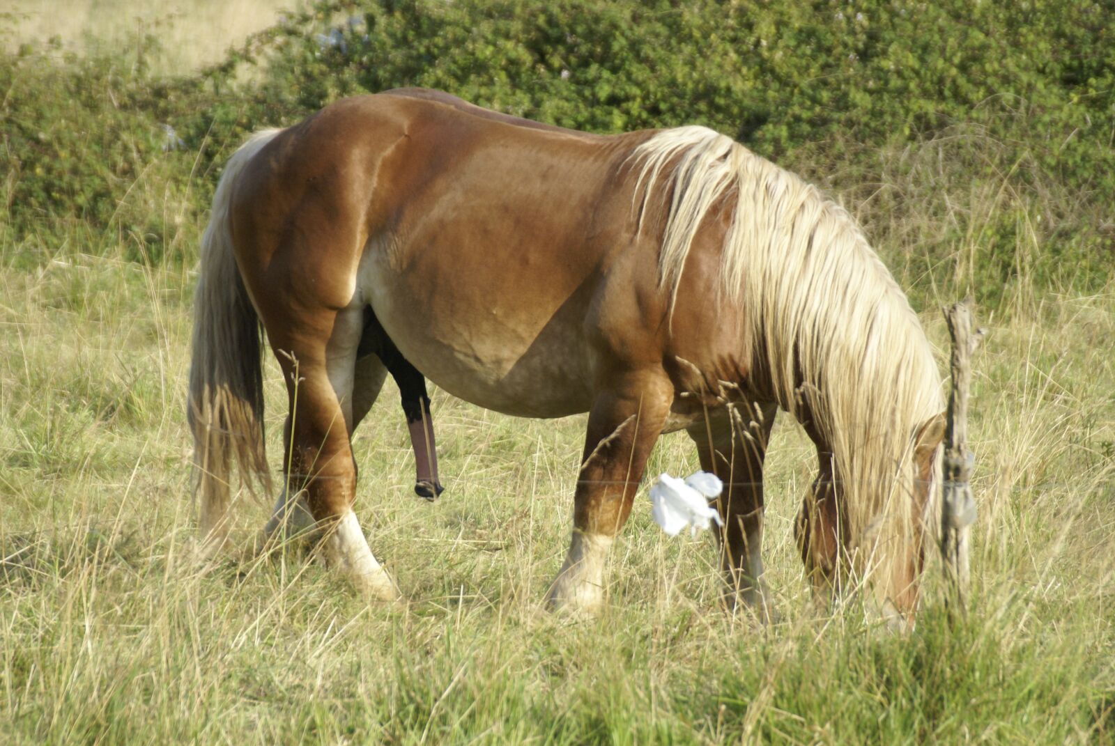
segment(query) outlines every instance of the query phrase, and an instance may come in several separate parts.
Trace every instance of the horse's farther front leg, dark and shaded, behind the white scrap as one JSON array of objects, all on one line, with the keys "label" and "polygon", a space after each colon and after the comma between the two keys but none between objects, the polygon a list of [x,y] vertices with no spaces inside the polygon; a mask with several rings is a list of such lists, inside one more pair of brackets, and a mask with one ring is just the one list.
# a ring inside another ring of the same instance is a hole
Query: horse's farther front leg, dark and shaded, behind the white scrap
[{"label": "horse's farther front leg, dark and shaded, behind the white scrap", "polygon": [[725,605],[734,610],[743,602],[769,622],[774,608],[763,582],[763,462],[777,407],[735,410],[735,418],[727,407],[711,411],[706,422],[687,432],[697,445],[701,468],[724,482],[716,504],[724,521],[717,540]]}]

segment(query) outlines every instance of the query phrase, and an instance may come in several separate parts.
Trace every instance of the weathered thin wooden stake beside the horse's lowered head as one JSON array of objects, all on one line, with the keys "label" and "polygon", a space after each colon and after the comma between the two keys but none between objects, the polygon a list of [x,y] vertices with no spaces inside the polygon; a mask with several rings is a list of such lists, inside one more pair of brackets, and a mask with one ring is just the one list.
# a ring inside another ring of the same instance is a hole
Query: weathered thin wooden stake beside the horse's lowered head
[{"label": "weathered thin wooden stake beside the horse's lowered head", "polygon": [[941,484],[941,556],[946,578],[956,589],[957,605],[963,610],[968,595],[968,533],[976,521],[976,500],[969,478],[972,455],[964,448],[968,437],[968,385],[971,381],[971,356],[983,337],[972,331],[971,299],[942,311],[952,337],[952,391],[949,394],[949,422],[944,430],[944,469]]}]

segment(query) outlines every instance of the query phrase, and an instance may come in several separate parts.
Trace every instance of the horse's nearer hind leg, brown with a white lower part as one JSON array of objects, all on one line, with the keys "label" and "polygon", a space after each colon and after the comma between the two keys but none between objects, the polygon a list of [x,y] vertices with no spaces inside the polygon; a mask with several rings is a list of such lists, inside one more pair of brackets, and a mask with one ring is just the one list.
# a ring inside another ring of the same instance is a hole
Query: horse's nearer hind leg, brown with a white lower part
[{"label": "horse's nearer hind leg, brown with a white lower part", "polygon": [[352,512],[356,464],[349,434],[356,422],[353,386],[362,326],[361,309],[288,314],[268,324],[291,405],[283,472],[288,491],[304,497],[322,532],[326,561],[361,592],[396,600],[398,591]]}]

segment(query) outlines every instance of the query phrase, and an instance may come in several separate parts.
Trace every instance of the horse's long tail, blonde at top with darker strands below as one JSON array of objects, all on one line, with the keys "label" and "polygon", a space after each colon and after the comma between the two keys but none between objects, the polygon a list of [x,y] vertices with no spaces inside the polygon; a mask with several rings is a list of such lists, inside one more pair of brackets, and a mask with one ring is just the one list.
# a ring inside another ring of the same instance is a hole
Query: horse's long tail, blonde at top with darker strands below
[{"label": "horse's long tail, blonde at top with darker strands below", "polygon": [[202,236],[186,417],[194,436],[194,494],[201,502],[206,552],[225,541],[232,458],[250,488],[253,479],[271,486],[263,444],[260,322],[236,268],[229,209],[244,164],[279,132],[254,134],[229,159]]}]

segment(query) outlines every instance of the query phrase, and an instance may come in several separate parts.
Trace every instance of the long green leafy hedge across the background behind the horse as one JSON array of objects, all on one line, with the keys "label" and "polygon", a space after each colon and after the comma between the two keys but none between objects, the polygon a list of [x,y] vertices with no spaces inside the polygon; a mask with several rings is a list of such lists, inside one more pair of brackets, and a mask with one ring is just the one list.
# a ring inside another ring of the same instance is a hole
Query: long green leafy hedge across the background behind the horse
[{"label": "long green leafy hedge across the background behind the horse", "polygon": [[[25,116],[8,144],[20,158],[9,211],[28,221],[69,205],[110,223],[108,195],[118,198],[145,158],[163,158],[152,125],[167,122],[196,156],[200,213],[214,164],[246,132],[341,96],[428,86],[597,132],[705,124],[866,205],[861,217],[892,265],[948,269],[942,281],[973,283],[992,301],[1020,277],[1094,288],[1115,264],[1106,20],[1099,3],[1068,0],[319,3],[223,65],[176,81],[140,75],[123,98],[127,86],[107,85],[97,66],[37,72],[36,89],[58,85],[50,76],[91,84],[89,112],[104,108],[107,127],[89,138],[84,171],[48,171],[40,161],[58,148],[37,143],[41,124]],[[236,83],[245,61],[255,75]]]}]

